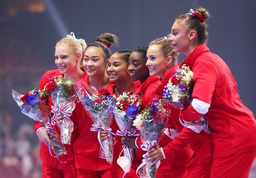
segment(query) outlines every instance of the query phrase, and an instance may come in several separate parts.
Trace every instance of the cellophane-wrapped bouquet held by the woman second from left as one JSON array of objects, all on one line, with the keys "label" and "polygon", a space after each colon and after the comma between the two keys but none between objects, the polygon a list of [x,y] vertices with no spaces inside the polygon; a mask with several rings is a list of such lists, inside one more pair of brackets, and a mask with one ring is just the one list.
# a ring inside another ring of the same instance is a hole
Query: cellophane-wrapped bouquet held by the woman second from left
[{"label": "cellophane-wrapped bouquet held by the woman second from left", "polygon": [[[112,164],[116,135],[112,132],[110,127],[113,121],[113,116],[110,114],[108,107],[110,103],[113,103],[115,97],[110,95],[110,92],[107,89],[102,88],[97,91],[95,88],[82,81],[78,82],[75,91],[94,122],[91,131],[98,132],[97,138],[100,145],[99,158],[105,159],[109,164]],[[107,131],[110,138],[101,140],[101,130]]]}]

